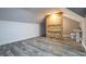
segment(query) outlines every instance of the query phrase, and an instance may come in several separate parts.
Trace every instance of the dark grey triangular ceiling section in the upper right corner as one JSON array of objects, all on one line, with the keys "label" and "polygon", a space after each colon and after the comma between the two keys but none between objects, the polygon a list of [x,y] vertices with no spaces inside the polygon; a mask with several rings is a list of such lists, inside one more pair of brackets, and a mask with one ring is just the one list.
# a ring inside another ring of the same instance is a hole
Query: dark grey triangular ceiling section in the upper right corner
[{"label": "dark grey triangular ceiling section in the upper right corner", "polygon": [[86,15],[86,8],[67,8],[70,9],[71,11],[82,15],[83,17]]}]

